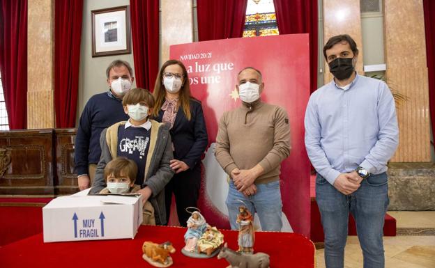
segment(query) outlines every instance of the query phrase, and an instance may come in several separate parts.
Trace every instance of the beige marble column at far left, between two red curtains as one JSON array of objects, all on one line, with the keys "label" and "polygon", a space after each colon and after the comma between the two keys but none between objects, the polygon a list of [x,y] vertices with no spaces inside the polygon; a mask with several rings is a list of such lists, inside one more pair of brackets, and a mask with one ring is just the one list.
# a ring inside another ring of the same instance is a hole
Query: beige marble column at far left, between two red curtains
[{"label": "beige marble column at far left, between two red curtains", "polygon": [[54,0],[29,0],[27,128],[54,128]]}]

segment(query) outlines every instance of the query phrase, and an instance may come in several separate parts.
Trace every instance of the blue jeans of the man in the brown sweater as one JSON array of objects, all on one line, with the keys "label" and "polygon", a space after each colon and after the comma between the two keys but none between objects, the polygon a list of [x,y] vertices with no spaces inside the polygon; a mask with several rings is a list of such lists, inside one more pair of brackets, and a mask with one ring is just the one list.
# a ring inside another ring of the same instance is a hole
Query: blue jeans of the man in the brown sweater
[{"label": "blue jeans of the man in the brown sweater", "polygon": [[[238,230],[236,223],[238,207],[245,205],[252,215],[257,212],[261,224],[261,230],[280,231],[282,228],[281,211],[282,200],[280,181],[256,184],[257,193],[252,196],[244,196],[237,191],[234,182],[229,182],[227,207],[231,229]],[[243,201],[243,203],[241,202]]]}]

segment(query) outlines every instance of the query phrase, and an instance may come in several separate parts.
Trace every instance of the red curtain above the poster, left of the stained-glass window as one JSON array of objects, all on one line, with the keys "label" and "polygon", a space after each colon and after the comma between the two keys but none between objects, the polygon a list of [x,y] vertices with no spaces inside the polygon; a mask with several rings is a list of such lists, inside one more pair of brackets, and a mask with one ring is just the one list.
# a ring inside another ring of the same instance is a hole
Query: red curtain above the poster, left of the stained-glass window
[{"label": "red curtain above the poster, left of the stained-glass window", "polygon": [[197,0],[199,41],[241,38],[247,0]]}]

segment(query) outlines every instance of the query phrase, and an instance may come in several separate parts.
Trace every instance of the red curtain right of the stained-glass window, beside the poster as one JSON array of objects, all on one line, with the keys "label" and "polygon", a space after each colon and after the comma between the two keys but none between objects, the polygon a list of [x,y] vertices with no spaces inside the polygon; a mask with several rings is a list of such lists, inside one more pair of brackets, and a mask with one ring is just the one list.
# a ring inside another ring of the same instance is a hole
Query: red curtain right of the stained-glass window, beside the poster
[{"label": "red curtain right of the stained-glass window, beside the poster", "polygon": [[273,0],[280,34],[310,33],[310,93],[317,89],[317,0]]}]

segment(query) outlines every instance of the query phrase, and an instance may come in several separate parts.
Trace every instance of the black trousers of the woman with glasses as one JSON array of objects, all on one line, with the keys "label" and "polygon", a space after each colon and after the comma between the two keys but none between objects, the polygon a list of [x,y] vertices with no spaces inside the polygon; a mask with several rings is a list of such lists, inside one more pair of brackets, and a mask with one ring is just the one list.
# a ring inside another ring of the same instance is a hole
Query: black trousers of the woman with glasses
[{"label": "black trousers of the woman with glasses", "polygon": [[186,212],[186,207],[197,207],[199,198],[199,187],[201,186],[201,163],[174,177],[165,187],[166,219],[169,221],[171,214],[172,194],[175,196],[178,221],[181,226],[186,226],[190,213]]}]

